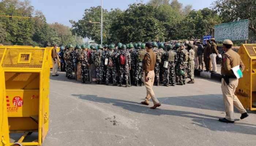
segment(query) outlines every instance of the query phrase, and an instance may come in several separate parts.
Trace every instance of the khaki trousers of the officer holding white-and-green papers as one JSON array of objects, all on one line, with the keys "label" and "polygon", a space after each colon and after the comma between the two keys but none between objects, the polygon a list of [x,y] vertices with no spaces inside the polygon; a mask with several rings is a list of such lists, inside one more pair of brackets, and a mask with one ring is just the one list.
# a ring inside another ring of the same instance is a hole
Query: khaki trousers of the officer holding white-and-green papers
[{"label": "khaki trousers of the officer holding white-and-green papers", "polygon": [[246,112],[243,105],[235,95],[235,91],[238,85],[238,79],[237,78],[230,78],[229,79],[229,85],[224,81],[224,79],[221,79],[221,90],[223,94],[223,100],[225,104],[225,110],[226,110],[226,119],[230,121],[234,121],[234,106],[238,109],[240,114],[243,114]]}]

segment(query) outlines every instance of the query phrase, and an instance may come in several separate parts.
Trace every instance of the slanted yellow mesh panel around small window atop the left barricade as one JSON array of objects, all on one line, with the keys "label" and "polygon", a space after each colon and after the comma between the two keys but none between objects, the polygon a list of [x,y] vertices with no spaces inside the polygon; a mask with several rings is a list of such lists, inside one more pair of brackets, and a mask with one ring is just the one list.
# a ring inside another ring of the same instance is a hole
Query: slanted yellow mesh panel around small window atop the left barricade
[{"label": "slanted yellow mesh panel around small window atop the left barricade", "polygon": [[[19,59],[19,54],[20,59]],[[31,53],[31,60],[29,63],[27,59]],[[18,60],[19,59],[19,60]],[[44,49],[12,49],[7,48],[3,60],[3,68],[41,68],[44,59]],[[22,61],[23,62],[20,62]],[[20,62],[20,63],[19,63]]]}]

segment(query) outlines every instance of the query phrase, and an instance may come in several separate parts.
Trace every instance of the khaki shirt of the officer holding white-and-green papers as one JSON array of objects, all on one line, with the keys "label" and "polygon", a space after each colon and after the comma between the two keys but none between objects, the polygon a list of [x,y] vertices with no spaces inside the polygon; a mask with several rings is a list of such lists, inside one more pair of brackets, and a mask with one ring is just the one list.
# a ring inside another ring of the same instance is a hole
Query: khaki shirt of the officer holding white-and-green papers
[{"label": "khaki shirt of the officer holding white-and-green papers", "polygon": [[227,52],[222,55],[221,65],[221,74],[226,76],[234,76],[231,68],[234,68],[235,66],[239,65],[242,72],[245,68],[240,55],[232,49],[227,50]]}]

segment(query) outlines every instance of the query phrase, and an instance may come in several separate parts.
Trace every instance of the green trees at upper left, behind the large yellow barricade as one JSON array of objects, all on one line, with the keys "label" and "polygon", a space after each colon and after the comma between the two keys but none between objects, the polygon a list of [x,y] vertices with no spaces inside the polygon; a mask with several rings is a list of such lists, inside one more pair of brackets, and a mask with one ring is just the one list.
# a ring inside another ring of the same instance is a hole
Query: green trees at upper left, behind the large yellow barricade
[{"label": "green trees at upper left, behind the large yellow barricade", "polygon": [[[30,1],[2,0],[0,2],[0,15],[32,16],[29,19],[0,17],[0,43],[4,45],[34,45],[52,46],[77,42],[80,40],[73,36],[70,28],[62,24],[47,24],[44,14],[34,11]],[[58,28],[59,27],[59,28]],[[63,31],[63,33],[60,33]]]}]

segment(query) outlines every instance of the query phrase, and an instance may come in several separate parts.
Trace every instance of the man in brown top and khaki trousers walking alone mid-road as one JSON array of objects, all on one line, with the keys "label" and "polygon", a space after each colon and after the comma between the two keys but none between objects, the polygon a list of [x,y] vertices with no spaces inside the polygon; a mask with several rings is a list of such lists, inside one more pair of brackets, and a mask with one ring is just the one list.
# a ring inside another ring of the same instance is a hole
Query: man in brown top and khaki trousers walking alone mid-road
[{"label": "man in brown top and khaki trousers walking alone mid-road", "polygon": [[145,101],[142,101],[142,104],[149,105],[149,100],[152,99],[154,106],[150,107],[151,109],[155,109],[157,107],[160,107],[161,104],[155,97],[155,93],[153,91],[153,85],[154,85],[154,80],[155,80],[155,62],[157,60],[156,54],[152,50],[152,43],[146,43],[146,51],[147,53],[144,55],[143,59],[143,80],[144,80],[144,85],[147,90],[147,96],[145,98]]}]

